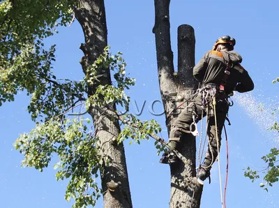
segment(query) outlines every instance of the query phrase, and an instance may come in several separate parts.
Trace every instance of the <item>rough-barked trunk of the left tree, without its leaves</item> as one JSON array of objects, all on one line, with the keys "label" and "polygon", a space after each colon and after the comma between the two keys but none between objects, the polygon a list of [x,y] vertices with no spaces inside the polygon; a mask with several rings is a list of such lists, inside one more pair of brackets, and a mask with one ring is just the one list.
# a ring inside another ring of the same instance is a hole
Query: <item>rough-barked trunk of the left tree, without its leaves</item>
[{"label": "rough-barked trunk of the left tree, without its leaves", "polygon": [[[103,0],[79,0],[78,7],[75,8],[75,17],[84,31],[85,43],[80,46],[84,52],[82,57],[82,68],[86,73],[89,68],[103,52],[107,45],[107,24],[105,19],[105,5]],[[109,68],[98,69],[98,84],[112,84]],[[96,86],[98,85],[96,84]],[[88,94],[94,94],[96,86],[89,89]],[[93,125],[96,136],[100,141],[100,155],[102,158],[110,158],[110,165],[103,163],[101,171],[102,189],[104,207],[111,208],[130,208],[132,200],[130,197],[130,188],[128,183],[128,173],[126,167],[126,158],[123,144],[116,143],[116,137],[119,135],[119,121],[111,117],[104,117],[103,110],[109,108],[115,110],[114,105],[91,107],[89,114],[93,119]],[[107,183],[116,183],[115,191],[107,188]]]}]

